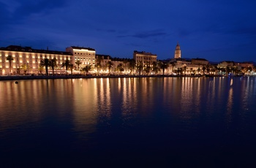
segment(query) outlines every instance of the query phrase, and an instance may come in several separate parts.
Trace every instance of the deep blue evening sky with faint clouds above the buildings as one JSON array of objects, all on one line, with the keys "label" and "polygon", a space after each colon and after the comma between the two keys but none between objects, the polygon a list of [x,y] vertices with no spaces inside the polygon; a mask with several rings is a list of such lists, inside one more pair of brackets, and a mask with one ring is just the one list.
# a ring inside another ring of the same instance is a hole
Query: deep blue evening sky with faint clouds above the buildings
[{"label": "deep blue evening sky with faint clouds above the buildings", "polygon": [[92,47],[132,58],[133,50],[173,58],[256,61],[252,0],[0,0],[0,47]]}]

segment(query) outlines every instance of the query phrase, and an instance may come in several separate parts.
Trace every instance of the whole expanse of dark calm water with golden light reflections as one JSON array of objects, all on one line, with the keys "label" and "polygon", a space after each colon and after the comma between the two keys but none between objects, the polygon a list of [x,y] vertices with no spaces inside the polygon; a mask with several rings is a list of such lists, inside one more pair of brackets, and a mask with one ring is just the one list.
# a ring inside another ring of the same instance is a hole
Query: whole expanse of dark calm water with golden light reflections
[{"label": "whole expanse of dark calm water with golden light reflections", "polygon": [[0,82],[0,167],[255,167],[256,77]]}]

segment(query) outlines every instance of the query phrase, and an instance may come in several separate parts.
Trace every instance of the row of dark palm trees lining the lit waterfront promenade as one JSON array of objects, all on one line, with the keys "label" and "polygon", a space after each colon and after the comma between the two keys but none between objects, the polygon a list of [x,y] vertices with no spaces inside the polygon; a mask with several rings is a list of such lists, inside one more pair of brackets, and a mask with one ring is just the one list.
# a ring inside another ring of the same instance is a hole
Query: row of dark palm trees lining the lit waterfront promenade
[{"label": "row of dark palm trees lining the lit waterfront promenade", "polygon": [[[7,56],[7,61],[9,61],[9,68],[10,68],[10,73],[12,72],[12,61],[14,60],[14,58],[12,56]],[[82,64],[79,60],[75,61],[75,64],[78,65],[78,70],[80,70],[81,72],[84,73],[84,75],[89,75],[89,72],[96,68],[97,69],[97,75],[99,75],[99,72],[101,71],[101,69],[106,68],[108,69],[108,75],[111,75],[111,71],[113,70],[113,62],[112,61],[108,61],[105,64],[105,67],[102,66],[102,61],[103,61],[103,57],[98,57],[96,58],[95,61],[95,65],[91,65],[88,64],[86,66],[83,66],[80,69],[80,65]],[[116,69],[114,69],[117,72],[124,72],[125,69],[129,69],[130,75],[132,75],[132,72],[134,72],[134,70],[136,69],[138,74],[141,75],[142,72],[145,72],[146,75],[148,75],[149,73],[152,73],[154,75],[157,75],[158,72],[160,72],[162,70],[162,75],[165,75],[165,69],[167,69],[169,66],[173,67],[173,72],[176,72],[179,75],[183,75],[184,72],[191,72],[191,73],[195,73],[195,70],[193,71],[192,69],[187,68],[187,66],[183,66],[180,68],[176,68],[175,64],[170,64],[167,61],[154,61],[151,64],[145,64],[142,61],[139,62],[135,62],[134,59],[124,59],[122,60],[122,63],[118,64],[116,66]],[[40,61],[39,64],[39,72],[42,74],[43,69],[45,68],[45,74],[48,75],[48,68],[52,69],[52,74],[54,75],[54,69],[56,67],[58,67],[57,65],[57,59],[56,58],[43,58]],[[71,62],[67,59],[64,61],[63,64],[61,64],[61,67],[65,67],[66,72],[68,71],[68,69],[72,70],[74,69],[74,65],[71,64]],[[26,73],[29,69],[28,64],[23,64],[20,66],[20,68],[22,68],[24,70],[24,72]],[[205,72],[208,74],[209,72],[232,72],[232,73],[240,73],[240,72],[246,72],[246,71],[252,71],[254,69],[248,69],[248,68],[243,68],[241,70],[238,70],[238,68],[236,66],[227,66],[227,68],[223,69],[223,68],[219,68],[217,66],[212,66],[212,65],[208,65],[208,66],[202,66],[201,68],[199,67],[197,69],[197,72],[201,72],[203,71],[203,74],[205,74]]]}]

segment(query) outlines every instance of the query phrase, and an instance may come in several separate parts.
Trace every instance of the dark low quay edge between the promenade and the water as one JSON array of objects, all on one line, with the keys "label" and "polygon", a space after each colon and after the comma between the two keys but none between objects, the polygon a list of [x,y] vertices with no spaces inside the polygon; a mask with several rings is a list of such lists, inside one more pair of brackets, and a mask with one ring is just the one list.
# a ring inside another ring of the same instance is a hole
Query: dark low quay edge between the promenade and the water
[{"label": "dark low quay edge between the promenade and the water", "polygon": [[[118,77],[227,77],[223,75],[200,75],[200,76],[191,76],[191,75],[110,75],[110,76],[92,76],[92,75],[10,75],[10,76],[0,76],[1,80],[43,80],[43,79],[90,79],[90,78],[118,78]],[[234,77],[243,77],[243,76],[234,76]]]}]

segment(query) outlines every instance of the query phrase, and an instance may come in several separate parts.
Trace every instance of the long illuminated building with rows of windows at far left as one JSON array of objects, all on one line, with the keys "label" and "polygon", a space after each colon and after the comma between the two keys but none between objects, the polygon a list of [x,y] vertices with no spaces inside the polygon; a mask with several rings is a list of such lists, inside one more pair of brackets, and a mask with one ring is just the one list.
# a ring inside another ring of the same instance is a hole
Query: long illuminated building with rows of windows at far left
[{"label": "long illuminated building with rows of windows at far left", "polygon": [[[13,60],[7,60],[8,56],[12,56]],[[37,50],[31,47],[21,47],[18,45],[10,45],[0,48],[0,75],[25,75],[39,74],[39,64],[44,58],[56,58],[57,67],[55,71],[61,73],[61,65],[66,59],[72,58],[72,53],[55,50]],[[48,67],[50,69],[50,67]],[[11,72],[10,72],[11,71]],[[50,71],[49,71],[50,73]]]}]

